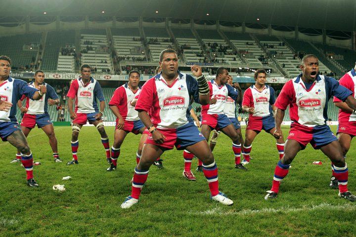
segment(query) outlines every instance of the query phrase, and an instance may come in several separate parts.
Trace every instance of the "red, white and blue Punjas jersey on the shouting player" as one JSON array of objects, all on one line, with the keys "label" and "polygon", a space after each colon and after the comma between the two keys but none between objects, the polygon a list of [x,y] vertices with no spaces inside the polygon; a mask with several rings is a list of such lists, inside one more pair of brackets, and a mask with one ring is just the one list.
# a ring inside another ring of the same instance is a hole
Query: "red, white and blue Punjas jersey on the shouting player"
[{"label": "red, white and blue Punjas jersey on the shouting player", "polygon": [[352,92],[339,85],[337,80],[322,75],[318,75],[308,88],[301,76],[284,84],[274,105],[281,110],[286,110],[289,105],[291,120],[304,126],[324,125],[330,97],[334,95],[345,101]]}]

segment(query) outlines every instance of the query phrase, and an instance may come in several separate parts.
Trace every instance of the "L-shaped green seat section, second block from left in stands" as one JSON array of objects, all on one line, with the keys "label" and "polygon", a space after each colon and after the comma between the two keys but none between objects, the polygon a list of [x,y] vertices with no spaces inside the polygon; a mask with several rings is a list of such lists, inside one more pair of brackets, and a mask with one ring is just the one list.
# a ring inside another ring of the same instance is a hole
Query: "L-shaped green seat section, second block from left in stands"
[{"label": "L-shaped green seat section, second block from left in stands", "polygon": [[[67,45],[75,45],[75,31],[48,32],[44,53],[42,56],[41,69],[44,71],[58,70],[58,59],[61,55],[60,49]],[[59,67],[61,69],[63,67]],[[61,70],[59,70],[61,71]]]}]

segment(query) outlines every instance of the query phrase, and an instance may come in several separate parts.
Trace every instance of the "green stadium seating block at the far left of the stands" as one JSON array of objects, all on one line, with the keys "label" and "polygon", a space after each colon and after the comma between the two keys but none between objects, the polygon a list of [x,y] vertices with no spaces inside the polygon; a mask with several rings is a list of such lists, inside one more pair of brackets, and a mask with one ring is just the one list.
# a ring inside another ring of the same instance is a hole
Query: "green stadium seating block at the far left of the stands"
[{"label": "green stadium seating block at the far left of the stands", "polygon": [[12,67],[30,65],[32,57],[36,57],[38,49],[23,50],[23,46],[31,43],[40,44],[41,34],[24,34],[16,36],[0,37],[1,55],[11,58]]}]

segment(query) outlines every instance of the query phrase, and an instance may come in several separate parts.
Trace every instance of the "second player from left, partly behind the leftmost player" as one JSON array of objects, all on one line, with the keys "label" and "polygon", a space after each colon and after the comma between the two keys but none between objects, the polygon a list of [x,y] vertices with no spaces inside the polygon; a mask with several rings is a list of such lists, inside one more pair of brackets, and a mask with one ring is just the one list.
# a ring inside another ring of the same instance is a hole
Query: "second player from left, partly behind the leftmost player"
[{"label": "second player from left, partly behind the leftmost player", "polygon": [[[37,124],[38,128],[42,128],[45,134],[48,136],[49,145],[52,148],[53,160],[54,162],[62,162],[59,158],[58,147],[57,147],[57,138],[54,134],[53,123],[48,115],[48,105],[58,105],[59,98],[55,93],[52,86],[44,82],[45,73],[42,71],[36,71],[35,80],[29,83],[29,86],[40,89],[40,86],[45,86],[47,93],[40,100],[31,100],[26,95],[23,95],[22,98],[17,102],[17,106],[20,108],[21,112],[24,113],[24,117],[21,121],[21,129],[25,137],[31,132],[31,129],[34,128]],[[22,106],[22,101],[26,98],[25,107]],[[13,160],[21,159],[20,151],[17,151],[16,158]]]}]

